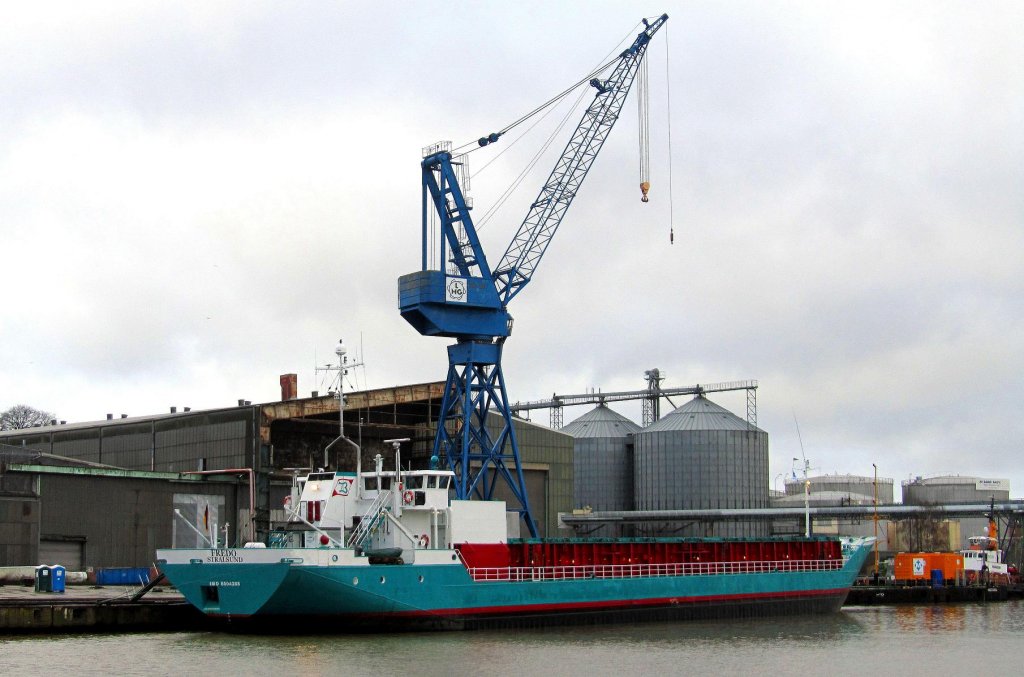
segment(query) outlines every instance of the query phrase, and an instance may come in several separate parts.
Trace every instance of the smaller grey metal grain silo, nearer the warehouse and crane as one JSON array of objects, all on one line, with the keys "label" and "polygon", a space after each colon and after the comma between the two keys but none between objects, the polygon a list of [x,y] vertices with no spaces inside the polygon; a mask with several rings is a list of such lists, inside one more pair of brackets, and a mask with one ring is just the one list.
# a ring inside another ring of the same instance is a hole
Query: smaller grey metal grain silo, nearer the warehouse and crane
[{"label": "smaller grey metal grain silo, nearer the warehouse and crane", "polygon": [[562,427],[572,435],[574,508],[633,509],[633,433],[640,426],[604,405]]}]

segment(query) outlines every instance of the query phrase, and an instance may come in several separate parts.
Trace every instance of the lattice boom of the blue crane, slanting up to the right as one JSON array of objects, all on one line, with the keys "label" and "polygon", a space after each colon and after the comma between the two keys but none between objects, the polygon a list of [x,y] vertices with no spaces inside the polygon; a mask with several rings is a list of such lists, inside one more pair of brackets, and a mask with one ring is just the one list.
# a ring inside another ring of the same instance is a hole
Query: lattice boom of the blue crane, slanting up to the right
[{"label": "lattice boom of the blue crane, slanting up to the right", "polygon": [[663,14],[651,23],[644,19],[645,30],[620,55],[611,76],[603,81],[597,78],[590,81],[597,90],[594,99],[495,269],[495,285],[503,304],[507,305],[534,277],[534,270],[618,119],[651,36],[668,18],[668,14]]}]

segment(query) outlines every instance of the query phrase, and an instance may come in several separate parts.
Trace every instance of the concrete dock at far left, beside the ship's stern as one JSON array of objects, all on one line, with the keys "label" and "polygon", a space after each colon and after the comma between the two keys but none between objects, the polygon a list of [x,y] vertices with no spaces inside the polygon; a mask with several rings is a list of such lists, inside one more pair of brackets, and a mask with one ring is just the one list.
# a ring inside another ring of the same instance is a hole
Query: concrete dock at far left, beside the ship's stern
[{"label": "concrete dock at far left, beside the ship's stern", "polygon": [[133,600],[140,587],[68,586],[36,592],[0,585],[0,634],[204,630],[206,617],[176,590],[156,587]]}]

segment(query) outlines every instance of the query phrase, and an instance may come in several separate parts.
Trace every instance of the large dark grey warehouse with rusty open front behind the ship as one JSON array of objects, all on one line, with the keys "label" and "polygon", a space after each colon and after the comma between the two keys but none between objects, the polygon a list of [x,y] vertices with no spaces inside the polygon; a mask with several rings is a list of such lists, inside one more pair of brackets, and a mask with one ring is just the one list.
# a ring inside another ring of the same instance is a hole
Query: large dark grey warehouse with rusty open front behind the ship
[{"label": "large dark grey warehouse with rusty open front behind the ship", "polygon": [[[409,437],[403,465],[425,468],[443,383],[346,393],[344,428],[360,443],[362,467],[385,439]],[[338,437],[338,397],[281,401],[0,432],[0,566],[80,562],[148,566],[159,547],[188,545],[190,531],[232,545],[263,540],[299,469],[355,468]],[[542,534],[571,509],[572,438],[516,421],[530,507]],[[496,492],[503,498],[501,491]],[[178,514],[180,513],[180,514]],[[190,545],[195,545],[191,543]]]}]

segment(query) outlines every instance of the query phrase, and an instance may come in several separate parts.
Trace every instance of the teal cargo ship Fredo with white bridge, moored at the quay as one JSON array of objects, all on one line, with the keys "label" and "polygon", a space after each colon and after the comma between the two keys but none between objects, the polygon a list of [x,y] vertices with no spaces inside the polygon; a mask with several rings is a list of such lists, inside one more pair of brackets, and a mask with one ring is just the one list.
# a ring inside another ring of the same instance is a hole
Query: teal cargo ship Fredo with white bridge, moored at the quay
[{"label": "teal cargo ship Fredo with white bridge, moored at the quay", "polygon": [[[400,468],[396,459],[395,468]],[[442,630],[837,611],[870,539],[518,539],[450,470],[296,476],[266,543],[159,550],[236,628]],[[310,626],[308,622],[317,625]]]}]

